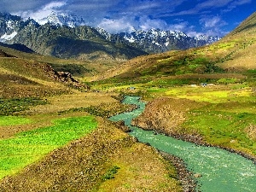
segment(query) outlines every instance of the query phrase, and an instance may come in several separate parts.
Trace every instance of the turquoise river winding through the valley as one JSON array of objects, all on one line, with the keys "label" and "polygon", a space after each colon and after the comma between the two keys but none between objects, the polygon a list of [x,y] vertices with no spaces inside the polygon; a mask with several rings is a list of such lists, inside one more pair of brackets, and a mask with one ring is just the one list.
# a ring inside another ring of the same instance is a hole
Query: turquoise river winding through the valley
[{"label": "turquoise river winding through the valley", "polygon": [[137,137],[139,142],[149,143],[154,148],[183,159],[190,172],[201,174],[201,177],[195,178],[197,191],[256,192],[256,165],[253,160],[221,148],[199,146],[131,126],[131,119],[143,113],[146,104],[140,101],[139,96],[125,96],[124,103],[136,104],[138,108],[130,113],[115,115],[110,120],[124,120],[131,129],[130,135]]}]

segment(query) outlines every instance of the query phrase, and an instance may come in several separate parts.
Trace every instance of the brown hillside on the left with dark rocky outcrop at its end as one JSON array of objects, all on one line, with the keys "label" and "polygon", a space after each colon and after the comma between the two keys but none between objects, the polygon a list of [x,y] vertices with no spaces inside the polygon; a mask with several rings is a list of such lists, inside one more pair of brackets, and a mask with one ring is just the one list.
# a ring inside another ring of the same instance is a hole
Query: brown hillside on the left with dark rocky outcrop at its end
[{"label": "brown hillside on the left with dark rocky outcrop at its end", "polygon": [[81,86],[68,73],[57,73],[49,64],[20,54],[0,46],[0,98],[50,96]]}]

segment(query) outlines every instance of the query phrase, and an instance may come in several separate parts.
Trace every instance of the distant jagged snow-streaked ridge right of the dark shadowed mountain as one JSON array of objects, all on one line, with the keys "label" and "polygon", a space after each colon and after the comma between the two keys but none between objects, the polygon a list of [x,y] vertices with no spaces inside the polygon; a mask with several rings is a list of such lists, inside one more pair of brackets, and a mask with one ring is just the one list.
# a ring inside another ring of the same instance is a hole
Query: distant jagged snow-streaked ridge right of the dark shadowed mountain
[{"label": "distant jagged snow-streaked ridge right of the dark shadowed mountain", "polygon": [[121,32],[114,35],[101,28],[97,28],[97,30],[108,41],[132,44],[148,53],[160,53],[172,49],[189,49],[212,44],[220,39],[219,37],[207,35],[189,37],[183,32],[164,31],[154,28],[148,32],[134,29],[131,33]]}]

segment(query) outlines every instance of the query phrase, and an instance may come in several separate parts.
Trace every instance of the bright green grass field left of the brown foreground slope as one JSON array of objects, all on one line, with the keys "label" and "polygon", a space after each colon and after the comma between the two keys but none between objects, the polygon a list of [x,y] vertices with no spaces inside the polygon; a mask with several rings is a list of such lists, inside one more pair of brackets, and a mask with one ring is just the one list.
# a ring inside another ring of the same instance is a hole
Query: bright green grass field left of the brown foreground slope
[{"label": "bright green grass field left of the brown foreground slope", "polygon": [[[11,121],[15,120],[17,118]],[[0,140],[0,178],[19,172],[55,148],[94,130],[96,125],[91,116],[57,119],[53,126],[23,131],[15,137]]]}]

